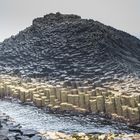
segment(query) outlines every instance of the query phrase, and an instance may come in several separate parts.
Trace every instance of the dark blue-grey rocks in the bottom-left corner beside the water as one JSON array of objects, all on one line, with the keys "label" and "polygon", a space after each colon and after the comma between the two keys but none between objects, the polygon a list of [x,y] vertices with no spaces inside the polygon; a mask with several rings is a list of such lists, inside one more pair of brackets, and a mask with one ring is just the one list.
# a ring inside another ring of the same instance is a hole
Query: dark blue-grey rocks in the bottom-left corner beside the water
[{"label": "dark blue-grey rocks in the bottom-left corner beside the water", "polygon": [[[9,119],[5,119],[5,117]],[[20,124],[11,122],[10,117],[0,112],[0,140],[45,140],[39,132],[31,129],[20,129]]]}]

